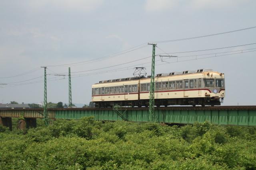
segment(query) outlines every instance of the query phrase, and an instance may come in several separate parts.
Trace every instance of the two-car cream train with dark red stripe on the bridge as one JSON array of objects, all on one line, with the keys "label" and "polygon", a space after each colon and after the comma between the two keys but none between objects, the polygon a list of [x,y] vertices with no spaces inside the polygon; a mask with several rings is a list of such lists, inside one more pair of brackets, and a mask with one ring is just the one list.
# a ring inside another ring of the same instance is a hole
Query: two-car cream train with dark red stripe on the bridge
[{"label": "two-car cream train with dark red stripe on the bridge", "polygon": [[[92,85],[96,107],[148,106],[150,76],[100,81]],[[225,96],[224,74],[212,69],[157,74],[155,105],[220,105]]]}]

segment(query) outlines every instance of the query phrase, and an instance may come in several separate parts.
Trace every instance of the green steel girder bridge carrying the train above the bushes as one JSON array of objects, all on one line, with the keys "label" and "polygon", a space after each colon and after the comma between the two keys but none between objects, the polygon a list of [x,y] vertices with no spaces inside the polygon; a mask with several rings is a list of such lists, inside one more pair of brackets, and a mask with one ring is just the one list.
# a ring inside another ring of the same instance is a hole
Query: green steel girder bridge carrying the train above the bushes
[{"label": "green steel girder bridge carrying the train above the bushes", "polygon": [[[93,116],[100,121],[149,122],[148,107],[64,108],[48,109],[48,120],[80,119]],[[157,122],[193,124],[209,121],[216,125],[256,126],[256,106],[155,107]],[[35,127],[36,119],[44,119],[44,109],[0,109],[0,125],[10,127],[12,117],[20,118],[20,129]],[[11,127],[10,127],[11,128]]]}]

